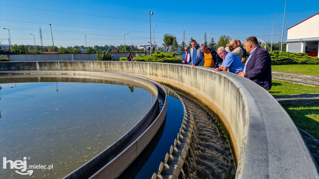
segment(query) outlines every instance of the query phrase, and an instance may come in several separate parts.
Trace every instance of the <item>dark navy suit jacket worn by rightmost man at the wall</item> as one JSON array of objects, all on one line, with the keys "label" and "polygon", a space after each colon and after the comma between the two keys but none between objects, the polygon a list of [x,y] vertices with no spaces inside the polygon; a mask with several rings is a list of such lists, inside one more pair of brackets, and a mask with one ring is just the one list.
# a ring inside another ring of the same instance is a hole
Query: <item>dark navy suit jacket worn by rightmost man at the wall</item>
[{"label": "dark navy suit jacket worn by rightmost man at the wall", "polygon": [[244,77],[259,84],[266,90],[271,89],[271,57],[266,49],[258,46],[245,64]]}]

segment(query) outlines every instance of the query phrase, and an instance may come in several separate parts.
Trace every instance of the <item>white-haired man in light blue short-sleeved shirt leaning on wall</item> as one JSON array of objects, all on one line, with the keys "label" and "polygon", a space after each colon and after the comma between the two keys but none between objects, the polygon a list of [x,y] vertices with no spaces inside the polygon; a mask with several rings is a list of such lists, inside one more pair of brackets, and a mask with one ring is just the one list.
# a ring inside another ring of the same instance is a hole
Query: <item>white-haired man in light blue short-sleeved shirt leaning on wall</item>
[{"label": "white-haired man in light blue short-sleeved shirt leaning on wall", "polygon": [[238,58],[235,54],[227,52],[224,47],[219,47],[217,50],[220,58],[224,59],[223,63],[219,68],[216,68],[215,71],[229,71],[235,74],[238,74],[244,69],[244,66],[241,63],[241,59]]}]

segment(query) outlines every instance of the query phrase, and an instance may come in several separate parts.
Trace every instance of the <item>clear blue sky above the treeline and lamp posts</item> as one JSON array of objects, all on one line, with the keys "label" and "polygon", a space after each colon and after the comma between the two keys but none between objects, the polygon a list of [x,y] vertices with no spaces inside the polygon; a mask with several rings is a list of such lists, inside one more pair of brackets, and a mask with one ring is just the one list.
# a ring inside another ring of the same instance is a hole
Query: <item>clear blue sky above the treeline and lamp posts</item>
[{"label": "clear blue sky above the treeline and lamp posts", "polygon": [[[49,24],[52,24],[55,46],[104,46],[124,44],[147,45],[155,26],[155,42],[161,45],[163,35],[170,33],[182,42],[183,31],[186,43],[192,37],[204,42],[204,33],[211,34],[217,42],[220,35],[231,39],[245,40],[256,36],[271,41],[273,17],[273,41],[278,42],[283,28],[285,0],[268,1],[1,1],[0,39],[8,39],[18,45],[40,45],[39,28],[43,34],[43,45],[52,45]],[[319,13],[318,0],[287,0],[284,41],[287,28]],[[318,22],[319,23],[319,22]],[[1,40],[0,40],[1,41]],[[209,40],[207,40],[209,41]],[[8,44],[3,40],[2,44]]]}]

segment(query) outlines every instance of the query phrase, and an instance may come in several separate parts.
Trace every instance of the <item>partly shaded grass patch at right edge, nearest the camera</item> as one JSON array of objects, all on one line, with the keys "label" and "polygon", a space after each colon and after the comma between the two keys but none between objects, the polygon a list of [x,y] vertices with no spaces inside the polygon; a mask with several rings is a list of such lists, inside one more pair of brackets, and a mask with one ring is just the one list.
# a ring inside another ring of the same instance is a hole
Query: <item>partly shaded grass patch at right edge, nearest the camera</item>
[{"label": "partly shaded grass patch at right edge, nearest the camera", "polygon": [[319,104],[286,105],[283,108],[299,128],[319,139]]}]

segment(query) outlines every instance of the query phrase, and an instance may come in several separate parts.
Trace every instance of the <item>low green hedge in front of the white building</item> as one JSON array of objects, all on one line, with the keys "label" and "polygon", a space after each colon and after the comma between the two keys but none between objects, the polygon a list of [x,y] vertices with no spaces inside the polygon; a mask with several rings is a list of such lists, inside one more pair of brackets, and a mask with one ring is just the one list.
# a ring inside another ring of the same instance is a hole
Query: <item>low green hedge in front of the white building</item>
[{"label": "low green hedge in front of the white building", "polygon": [[269,52],[272,65],[317,65],[319,64],[318,57],[308,56],[306,53],[292,52]]}]

